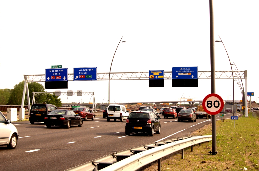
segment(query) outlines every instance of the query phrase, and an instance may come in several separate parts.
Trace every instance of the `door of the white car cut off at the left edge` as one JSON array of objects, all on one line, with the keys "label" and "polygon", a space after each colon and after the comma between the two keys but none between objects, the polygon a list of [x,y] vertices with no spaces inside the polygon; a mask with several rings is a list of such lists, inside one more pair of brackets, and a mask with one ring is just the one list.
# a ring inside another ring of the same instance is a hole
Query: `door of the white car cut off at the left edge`
[{"label": "door of the white car cut off at the left edge", "polygon": [[8,124],[5,123],[6,119],[4,115],[0,113],[0,144],[5,144],[8,143],[9,141],[9,136],[10,136],[10,130],[8,128]]}]

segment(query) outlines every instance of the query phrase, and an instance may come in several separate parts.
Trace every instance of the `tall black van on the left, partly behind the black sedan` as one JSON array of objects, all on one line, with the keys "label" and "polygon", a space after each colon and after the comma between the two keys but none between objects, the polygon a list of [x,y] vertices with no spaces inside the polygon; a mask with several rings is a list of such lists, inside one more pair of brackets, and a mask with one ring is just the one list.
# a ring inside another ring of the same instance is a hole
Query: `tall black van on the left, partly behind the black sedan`
[{"label": "tall black van on the left, partly behind the black sedan", "polygon": [[43,122],[45,115],[56,109],[57,107],[51,104],[33,104],[30,110],[29,120],[31,124],[34,124],[34,122]]}]

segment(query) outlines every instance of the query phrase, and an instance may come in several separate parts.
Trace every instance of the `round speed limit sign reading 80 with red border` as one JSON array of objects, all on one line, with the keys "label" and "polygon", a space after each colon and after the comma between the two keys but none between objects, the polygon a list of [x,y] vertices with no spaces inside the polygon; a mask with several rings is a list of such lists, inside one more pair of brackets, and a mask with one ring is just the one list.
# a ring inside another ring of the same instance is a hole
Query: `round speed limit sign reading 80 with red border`
[{"label": "round speed limit sign reading 80 with red border", "polygon": [[202,107],[208,114],[216,115],[224,107],[223,99],[217,94],[209,94],[202,101]]}]

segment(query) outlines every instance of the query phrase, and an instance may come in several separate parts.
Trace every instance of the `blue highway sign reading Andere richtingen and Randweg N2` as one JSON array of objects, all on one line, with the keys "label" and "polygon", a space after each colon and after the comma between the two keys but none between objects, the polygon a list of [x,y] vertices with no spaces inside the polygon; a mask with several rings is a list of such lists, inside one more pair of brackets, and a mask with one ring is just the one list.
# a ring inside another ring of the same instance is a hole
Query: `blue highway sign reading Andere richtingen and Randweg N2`
[{"label": "blue highway sign reading Andere richtingen and Randweg N2", "polygon": [[172,67],[172,79],[198,79],[198,67]]}]

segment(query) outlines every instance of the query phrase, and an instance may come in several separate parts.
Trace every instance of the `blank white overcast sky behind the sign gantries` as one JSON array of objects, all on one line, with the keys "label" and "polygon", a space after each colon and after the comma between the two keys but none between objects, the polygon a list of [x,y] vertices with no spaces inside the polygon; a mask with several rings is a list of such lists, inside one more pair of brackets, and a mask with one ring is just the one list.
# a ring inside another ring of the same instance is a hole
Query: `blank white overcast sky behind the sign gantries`
[{"label": "blank white overcast sky behind the sign gantries", "polygon": [[[231,61],[248,71],[251,100],[258,91],[259,1],[214,1],[215,40],[220,35]],[[171,67],[198,66],[210,71],[209,1],[1,1],[0,88],[13,88],[23,74],[45,74],[62,65],[97,67],[97,72],[171,71]],[[221,42],[215,42],[216,71],[231,71]],[[42,83],[44,85],[44,82]],[[96,102],[108,99],[108,81],[69,81],[67,90],[95,91]],[[48,89],[47,91],[55,91]],[[202,100],[211,93],[210,80],[198,88],[148,88],[148,80],[110,82],[110,101],[143,102]],[[232,80],[216,80],[216,93],[233,99]],[[194,99],[197,98],[197,99]],[[90,96],[68,97],[88,103]],[[61,96],[63,103],[67,96]],[[235,100],[241,100],[238,84]],[[259,102],[259,99],[257,99]]]}]

